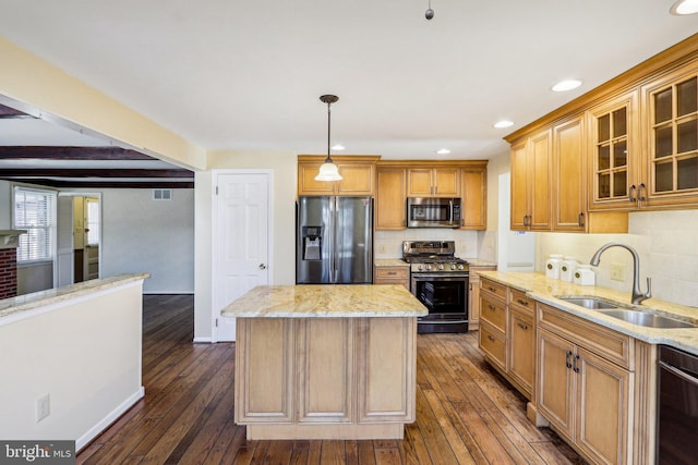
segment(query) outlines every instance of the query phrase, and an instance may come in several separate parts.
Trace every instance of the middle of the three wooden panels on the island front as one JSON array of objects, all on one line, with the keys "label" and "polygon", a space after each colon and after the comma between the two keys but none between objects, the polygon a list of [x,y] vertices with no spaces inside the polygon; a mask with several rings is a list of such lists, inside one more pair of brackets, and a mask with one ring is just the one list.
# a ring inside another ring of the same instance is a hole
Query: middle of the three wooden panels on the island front
[{"label": "middle of the three wooden panels on the island front", "polygon": [[352,318],[297,320],[298,423],[353,421]]}]

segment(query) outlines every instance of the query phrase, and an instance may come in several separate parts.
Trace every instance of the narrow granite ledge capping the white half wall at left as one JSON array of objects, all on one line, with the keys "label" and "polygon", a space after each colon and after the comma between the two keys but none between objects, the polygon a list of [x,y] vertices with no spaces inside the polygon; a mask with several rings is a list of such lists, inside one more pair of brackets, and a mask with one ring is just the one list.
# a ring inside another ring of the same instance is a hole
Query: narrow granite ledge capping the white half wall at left
[{"label": "narrow granite ledge capping the white half wall at left", "polygon": [[70,298],[87,295],[104,289],[116,287],[132,281],[148,278],[148,273],[117,274],[109,278],[96,279],[65,285],[62,287],[47,289],[46,291],[33,292],[32,294],[19,295],[16,297],[0,301],[0,320],[3,317],[26,311],[51,304],[57,304]]}]

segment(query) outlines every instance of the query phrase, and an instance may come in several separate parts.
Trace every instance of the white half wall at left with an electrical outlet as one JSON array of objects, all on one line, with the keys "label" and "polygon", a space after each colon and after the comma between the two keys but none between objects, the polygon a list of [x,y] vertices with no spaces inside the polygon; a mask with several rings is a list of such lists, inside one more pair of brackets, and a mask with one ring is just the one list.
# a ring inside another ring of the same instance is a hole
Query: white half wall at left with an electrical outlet
[{"label": "white half wall at left with an electrical outlet", "polygon": [[[141,283],[3,317],[0,438],[76,440],[80,449],[142,396]],[[37,423],[46,394],[50,414]]]}]

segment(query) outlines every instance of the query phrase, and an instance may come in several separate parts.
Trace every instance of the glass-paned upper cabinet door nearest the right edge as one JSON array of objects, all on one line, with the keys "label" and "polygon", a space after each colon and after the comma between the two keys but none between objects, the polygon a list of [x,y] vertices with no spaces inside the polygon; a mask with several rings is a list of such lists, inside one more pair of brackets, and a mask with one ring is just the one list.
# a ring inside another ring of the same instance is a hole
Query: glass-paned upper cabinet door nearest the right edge
[{"label": "glass-paned upper cabinet door nearest the right edge", "polygon": [[648,205],[698,204],[698,72],[645,90]]}]

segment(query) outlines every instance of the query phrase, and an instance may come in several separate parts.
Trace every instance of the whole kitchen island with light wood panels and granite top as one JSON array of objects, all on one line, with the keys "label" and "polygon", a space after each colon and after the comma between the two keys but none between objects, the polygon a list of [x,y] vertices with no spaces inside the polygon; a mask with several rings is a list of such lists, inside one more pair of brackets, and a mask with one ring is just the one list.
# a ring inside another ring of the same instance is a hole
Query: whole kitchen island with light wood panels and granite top
[{"label": "whole kitchen island with light wood panels and granite top", "polygon": [[257,286],[237,318],[234,420],[248,439],[401,439],[414,420],[417,317],[400,285]]}]

